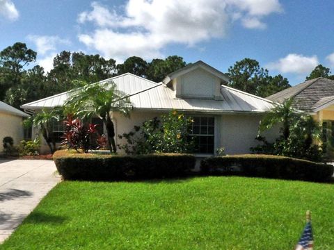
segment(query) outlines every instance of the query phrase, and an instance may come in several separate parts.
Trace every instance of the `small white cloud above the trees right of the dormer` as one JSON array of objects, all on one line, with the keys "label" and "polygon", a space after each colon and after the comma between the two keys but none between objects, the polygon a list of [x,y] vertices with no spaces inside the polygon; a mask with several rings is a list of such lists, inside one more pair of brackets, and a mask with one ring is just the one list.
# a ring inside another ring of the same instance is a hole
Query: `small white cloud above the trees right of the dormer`
[{"label": "small white cloud above the trees right of the dormer", "polygon": [[310,73],[319,65],[317,56],[303,56],[296,53],[289,53],[285,58],[277,62],[269,63],[268,69],[278,70],[282,73],[305,74]]}]

